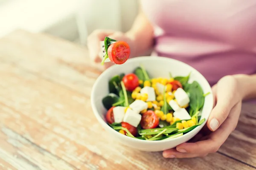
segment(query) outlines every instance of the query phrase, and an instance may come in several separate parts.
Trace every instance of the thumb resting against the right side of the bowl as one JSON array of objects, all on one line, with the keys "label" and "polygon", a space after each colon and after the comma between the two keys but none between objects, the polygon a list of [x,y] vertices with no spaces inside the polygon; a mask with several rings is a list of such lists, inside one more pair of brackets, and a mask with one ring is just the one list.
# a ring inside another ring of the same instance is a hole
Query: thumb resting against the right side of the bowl
[{"label": "thumb resting against the right side of the bowl", "polygon": [[236,80],[229,76],[221,79],[217,84],[216,106],[207,121],[207,127],[215,131],[227,119],[230,109],[239,101],[236,97]]}]

